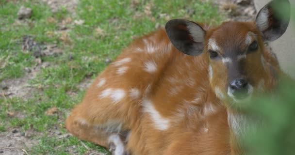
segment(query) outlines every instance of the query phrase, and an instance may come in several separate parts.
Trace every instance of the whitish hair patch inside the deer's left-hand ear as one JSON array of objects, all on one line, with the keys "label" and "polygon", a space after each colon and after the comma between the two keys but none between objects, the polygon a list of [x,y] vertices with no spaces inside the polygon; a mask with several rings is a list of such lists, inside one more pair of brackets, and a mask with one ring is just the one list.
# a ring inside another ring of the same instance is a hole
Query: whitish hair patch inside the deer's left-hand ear
[{"label": "whitish hair patch inside the deer's left-hand ear", "polygon": [[204,41],[204,31],[195,23],[187,22],[187,28],[195,42]]}]

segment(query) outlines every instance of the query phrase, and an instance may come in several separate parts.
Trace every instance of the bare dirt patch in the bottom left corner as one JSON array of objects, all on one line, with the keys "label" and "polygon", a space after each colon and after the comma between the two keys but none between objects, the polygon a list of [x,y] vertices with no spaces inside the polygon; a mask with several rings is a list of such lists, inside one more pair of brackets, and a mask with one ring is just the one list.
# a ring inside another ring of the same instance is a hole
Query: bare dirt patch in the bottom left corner
[{"label": "bare dirt patch in the bottom left corner", "polygon": [[18,130],[0,132],[0,155],[26,155],[26,149],[38,143],[38,140],[26,137],[26,133]]}]

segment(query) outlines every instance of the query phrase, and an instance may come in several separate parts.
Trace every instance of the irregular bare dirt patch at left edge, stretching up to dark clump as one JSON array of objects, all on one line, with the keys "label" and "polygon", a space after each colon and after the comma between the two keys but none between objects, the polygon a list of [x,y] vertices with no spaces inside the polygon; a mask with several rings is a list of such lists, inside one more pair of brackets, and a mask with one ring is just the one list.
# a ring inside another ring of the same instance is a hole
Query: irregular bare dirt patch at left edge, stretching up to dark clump
[{"label": "irregular bare dirt patch at left edge, stretching up to dark clump", "polygon": [[36,77],[37,73],[42,68],[51,66],[51,62],[42,62],[42,56],[58,56],[63,54],[63,50],[56,45],[38,43],[33,40],[33,36],[25,35],[22,40],[23,52],[31,52],[35,57],[36,66],[24,68],[25,76],[22,78],[10,78],[0,82],[0,97],[21,97],[28,99],[34,93],[38,93],[35,86],[32,86],[29,81]]}]

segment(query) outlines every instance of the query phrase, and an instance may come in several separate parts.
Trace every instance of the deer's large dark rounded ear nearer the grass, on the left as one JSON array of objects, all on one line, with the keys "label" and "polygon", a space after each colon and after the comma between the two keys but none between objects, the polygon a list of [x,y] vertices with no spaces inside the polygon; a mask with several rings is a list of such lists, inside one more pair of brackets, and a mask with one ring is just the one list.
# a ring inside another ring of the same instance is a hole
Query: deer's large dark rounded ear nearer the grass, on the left
[{"label": "deer's large dark rounded ear nearer the grass, on the left", "polygon": [[203,52],[205,31],[197,23],[185,19],[169,20],[165,26],[171,43],[187,55]]}]

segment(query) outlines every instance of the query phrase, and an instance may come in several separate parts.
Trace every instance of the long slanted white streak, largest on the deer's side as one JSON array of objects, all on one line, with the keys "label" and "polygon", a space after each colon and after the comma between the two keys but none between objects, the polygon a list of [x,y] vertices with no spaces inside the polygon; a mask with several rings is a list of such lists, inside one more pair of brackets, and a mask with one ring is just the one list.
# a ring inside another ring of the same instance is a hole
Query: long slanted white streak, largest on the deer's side
[{"label": "long slanted white streak, largest on the deer's side", "polygon": [[155,128],[158,130],[166,130],[169,128],[169,120],[163,118],[161,114],[155,109],[153,103],[150,100],[143,101],[143,110],[144,112],[149,113]]}]

